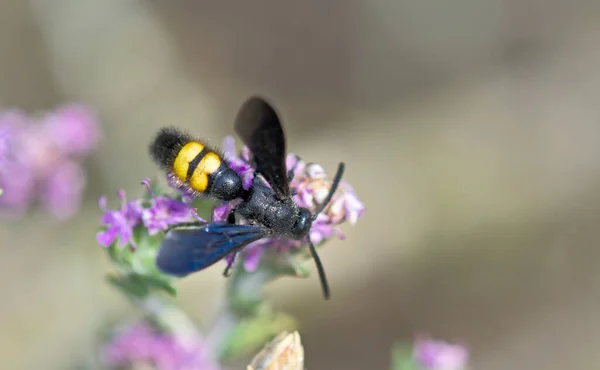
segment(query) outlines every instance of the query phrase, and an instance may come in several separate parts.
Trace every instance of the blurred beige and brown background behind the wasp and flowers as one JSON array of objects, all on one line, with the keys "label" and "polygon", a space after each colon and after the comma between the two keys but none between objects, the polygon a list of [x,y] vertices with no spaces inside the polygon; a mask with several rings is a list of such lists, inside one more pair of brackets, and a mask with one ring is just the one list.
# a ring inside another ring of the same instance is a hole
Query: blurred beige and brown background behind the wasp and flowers
[{"label": "blurred beige and brown background behind the wasp and flowers", "polygon": [[[266,294],[299,319],[310,369],[387,369],[415,333],[473,368],[600,363],[600,2],[2,0],[0,108],[91,106],[103,141],[78,216],[0,225],[3,369],[67,369],[135,315],[107,286],[97,199],[143,194],[147,143],[220,143],[250,94],[288,149],[367,207],[316,277]],[[179,285],[202,321],[220,264]]]}]

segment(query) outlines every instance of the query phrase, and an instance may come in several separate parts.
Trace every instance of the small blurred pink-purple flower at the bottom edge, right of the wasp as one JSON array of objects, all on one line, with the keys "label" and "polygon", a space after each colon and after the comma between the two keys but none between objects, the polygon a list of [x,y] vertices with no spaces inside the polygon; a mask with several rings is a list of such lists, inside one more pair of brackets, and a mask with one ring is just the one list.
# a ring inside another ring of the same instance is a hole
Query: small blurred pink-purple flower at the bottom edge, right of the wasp
[{"label": "small blurred pink-purple flower at the bottom edge, right of the wasp", "polygon": [[419,338],[415,342],[413,356],[419,369],[464,370],[469,361],[469,350],[462,344]]}]

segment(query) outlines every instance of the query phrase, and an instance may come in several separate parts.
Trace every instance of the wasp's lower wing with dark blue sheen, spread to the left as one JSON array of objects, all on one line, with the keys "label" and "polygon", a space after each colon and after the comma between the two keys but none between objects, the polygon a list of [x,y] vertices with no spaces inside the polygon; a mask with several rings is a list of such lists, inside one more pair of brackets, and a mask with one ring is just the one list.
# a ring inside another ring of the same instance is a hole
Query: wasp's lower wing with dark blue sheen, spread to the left
[{"label": "wasp's lower wing with dark blue sheen, spread to the left", "polygon": [[268,229],[260,226],[220,222],[176,227],[169,230],[162,241],[156,266],[165,274],[185,276],[214,264],[268,233]]}]

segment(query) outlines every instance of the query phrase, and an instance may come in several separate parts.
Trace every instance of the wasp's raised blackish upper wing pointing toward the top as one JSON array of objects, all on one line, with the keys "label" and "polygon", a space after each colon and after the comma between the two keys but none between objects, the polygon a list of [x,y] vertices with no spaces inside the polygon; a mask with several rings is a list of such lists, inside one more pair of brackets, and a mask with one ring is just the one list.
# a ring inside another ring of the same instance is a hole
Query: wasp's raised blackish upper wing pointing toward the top
[{"label": "wasp's raised blackish upper wing pointing toward the top", "polygon": [[248,146],[261,174],[278,198],[290,195],[285,167],[285,137],[277,113],[259,97],[248,99],[238,111],[235,130]]}]

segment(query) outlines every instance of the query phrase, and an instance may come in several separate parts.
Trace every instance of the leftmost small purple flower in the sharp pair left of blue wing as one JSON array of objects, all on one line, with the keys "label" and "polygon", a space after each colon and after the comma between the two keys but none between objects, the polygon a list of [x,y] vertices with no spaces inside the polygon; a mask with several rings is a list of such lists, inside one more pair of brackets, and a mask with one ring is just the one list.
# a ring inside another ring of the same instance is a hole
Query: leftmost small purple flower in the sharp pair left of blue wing
[{"label": "leftmost small purple flower in the sharp pair left of blue wing", "polygon": [[106,230],[96,235],[96,241],[104,247],[110,247],[118,238],[121,247],[129,244],[135,248],[133,228],[142,221],[142,201],[136,199],[127,202],[124,190],[119,190],[117,196],[121,200],[121,208],[118,210],[110,210],[106,207],[105,196],[98,200],[100,209],[104,211],[102,224],[106,226]]}]

